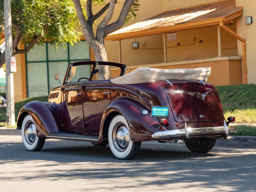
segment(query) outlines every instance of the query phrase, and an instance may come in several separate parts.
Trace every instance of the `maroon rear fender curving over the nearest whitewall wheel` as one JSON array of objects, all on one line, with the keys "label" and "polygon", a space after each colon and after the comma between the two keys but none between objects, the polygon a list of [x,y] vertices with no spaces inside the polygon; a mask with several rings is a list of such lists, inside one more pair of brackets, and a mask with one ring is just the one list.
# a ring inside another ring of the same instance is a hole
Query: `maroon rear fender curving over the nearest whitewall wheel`
[{"label": "maroon rear fender curving over the nearest whitewall wheel", "polygon": [[[143,115],[142,111],[147,110],[148,114]],[[132,141],[149,141],[154,140],[151,135],[159,131],[154,125],[159,125],[155,117],[151,117],[151,111],[144,105],[134,99],[118,99],[113,101],[102,116],[100,127],[99,141],[106,137],[111,119],[120,113],[128,122]],[[158,126],[155,126],[158,127]]]}]

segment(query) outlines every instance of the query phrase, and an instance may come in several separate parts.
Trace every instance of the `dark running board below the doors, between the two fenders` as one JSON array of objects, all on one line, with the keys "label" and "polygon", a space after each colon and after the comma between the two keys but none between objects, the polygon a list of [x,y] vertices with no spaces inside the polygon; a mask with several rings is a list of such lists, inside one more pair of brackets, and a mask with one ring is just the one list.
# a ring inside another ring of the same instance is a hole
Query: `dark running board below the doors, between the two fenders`
[{"label": "dark running board below the doors, between the two fenders", "polygon": [[58,140],[90,141],[98,142],[99,135],[75,134],[69,132],[50,133],[47,138]]}]

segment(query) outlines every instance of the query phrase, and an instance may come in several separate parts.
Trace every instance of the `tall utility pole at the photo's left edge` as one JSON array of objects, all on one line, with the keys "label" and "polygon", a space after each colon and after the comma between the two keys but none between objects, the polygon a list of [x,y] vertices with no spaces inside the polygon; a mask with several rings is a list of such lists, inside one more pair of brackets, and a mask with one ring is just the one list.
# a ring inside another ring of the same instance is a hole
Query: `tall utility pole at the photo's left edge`
[{"label": "tall utility pole at the photo's left edge", "polygon": [[4,37],[5,37],[5,55],[6,55],[6,115],[7,126],[15,125],[14,113],[14,86],[13,73],[11,72],[12,57],[12,12],[11,0],[4,0]]}]

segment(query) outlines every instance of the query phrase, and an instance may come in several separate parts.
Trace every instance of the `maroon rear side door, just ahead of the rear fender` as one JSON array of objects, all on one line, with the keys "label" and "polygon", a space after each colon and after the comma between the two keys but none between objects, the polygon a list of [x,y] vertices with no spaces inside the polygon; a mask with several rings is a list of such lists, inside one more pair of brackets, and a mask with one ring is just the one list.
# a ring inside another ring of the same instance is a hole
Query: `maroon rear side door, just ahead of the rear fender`
[{"label": "maroon rear side door, just ahead of the rear fender", "polygon": [[99,134],[100,123],[110,103],[110,80],[84,81],[83,110],[89,134]]}]

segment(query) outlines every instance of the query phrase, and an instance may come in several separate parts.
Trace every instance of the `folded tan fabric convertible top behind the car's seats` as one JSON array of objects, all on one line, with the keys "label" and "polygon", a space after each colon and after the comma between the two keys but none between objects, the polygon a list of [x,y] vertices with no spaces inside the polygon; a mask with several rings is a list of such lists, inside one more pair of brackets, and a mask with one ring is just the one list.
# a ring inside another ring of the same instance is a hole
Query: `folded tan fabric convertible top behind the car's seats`
[{"label": "folded tan fabric convertible top behind the car's seats", "polygon": [[111,79],[115,84],[138,84],[166,79],[195,79],[207,81],[211,74],[211,67],[196,69],[156,69],[141,67],[124,76]]}]

